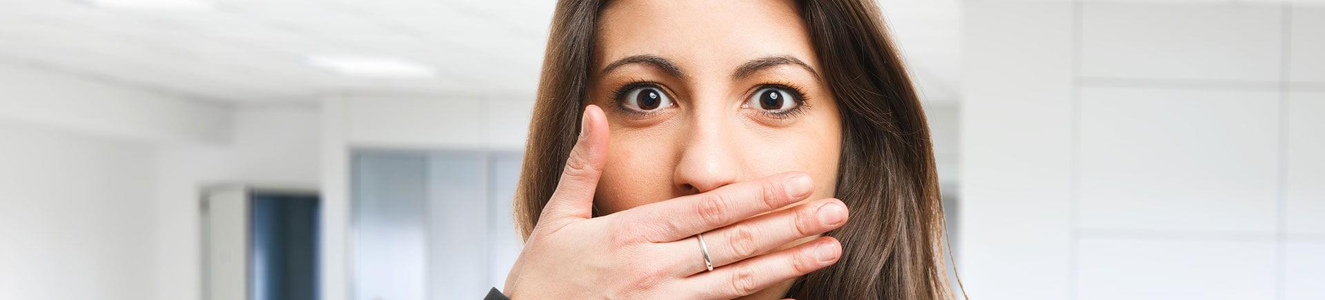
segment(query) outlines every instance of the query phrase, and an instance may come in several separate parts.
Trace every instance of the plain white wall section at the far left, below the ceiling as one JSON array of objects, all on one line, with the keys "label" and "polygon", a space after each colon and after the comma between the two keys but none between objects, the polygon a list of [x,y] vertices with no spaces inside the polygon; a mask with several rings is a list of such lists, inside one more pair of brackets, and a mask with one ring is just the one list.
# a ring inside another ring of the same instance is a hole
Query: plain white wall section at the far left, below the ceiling
[{"label": "plain white wall section at the far left, below the ceiling", "polygon": [[0,122],[0,299],[150,299],[152,149]]}]

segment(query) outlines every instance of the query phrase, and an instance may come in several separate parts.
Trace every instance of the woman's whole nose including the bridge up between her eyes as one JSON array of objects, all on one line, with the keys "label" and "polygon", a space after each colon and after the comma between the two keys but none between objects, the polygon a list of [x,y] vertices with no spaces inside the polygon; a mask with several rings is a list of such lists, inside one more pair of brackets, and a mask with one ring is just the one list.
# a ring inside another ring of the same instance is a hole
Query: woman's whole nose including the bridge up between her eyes
[{"label": "woman's whole nose including the bridge up between her eyes", "polygon": [[689,118],[688,137],[681,145],[673,182],[685,193],[704,193],[735,182],[739,160],[735,153],[735,132],[719,99],[706,106],[694,106]]}]

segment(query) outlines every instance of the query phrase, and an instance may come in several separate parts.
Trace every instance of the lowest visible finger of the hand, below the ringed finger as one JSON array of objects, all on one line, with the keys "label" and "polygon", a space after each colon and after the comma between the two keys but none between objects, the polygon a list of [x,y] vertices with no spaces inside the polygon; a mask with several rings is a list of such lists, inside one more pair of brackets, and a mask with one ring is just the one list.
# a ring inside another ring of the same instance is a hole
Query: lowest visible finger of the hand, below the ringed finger
[{"label": "lowest visible finger of the hand, below the ringed finger", "polygon": [[841,244],[837,239],[823,237],[788,250],[697,274],[682,281],[690,285],[690,291],[702,291],[701,297],[733,299],[832,266],[840,256]]}]

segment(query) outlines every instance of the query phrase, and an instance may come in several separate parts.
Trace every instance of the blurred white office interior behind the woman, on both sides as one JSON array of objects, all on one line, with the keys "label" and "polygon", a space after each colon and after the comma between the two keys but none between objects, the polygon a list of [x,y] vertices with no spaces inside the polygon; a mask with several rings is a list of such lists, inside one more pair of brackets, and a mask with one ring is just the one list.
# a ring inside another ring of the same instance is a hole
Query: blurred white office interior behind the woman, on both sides
[{"label": "blurred white office interior behind the woman, on both sides", "polygon": [[[1325,299],[1325,3],[880,0],[975,299]],[[553,1],[0,0],[0,299],[477,299]]]}]

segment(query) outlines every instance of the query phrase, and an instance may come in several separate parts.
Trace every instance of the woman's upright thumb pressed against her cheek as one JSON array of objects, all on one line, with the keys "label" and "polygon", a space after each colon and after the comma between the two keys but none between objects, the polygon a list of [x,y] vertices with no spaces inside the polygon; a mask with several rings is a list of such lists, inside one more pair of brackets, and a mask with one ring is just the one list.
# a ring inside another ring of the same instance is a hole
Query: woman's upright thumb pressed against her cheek
[{"label": "woman's upright thumb pressed against her cheek", "polygon": [[[607,164],[607,116],[598,106],[584,108],[579,139],[566,159],[556,190],[543,207],[541,219],[590,218],[594,190]],[[542,222],[542,221],[541,221]]]}]

